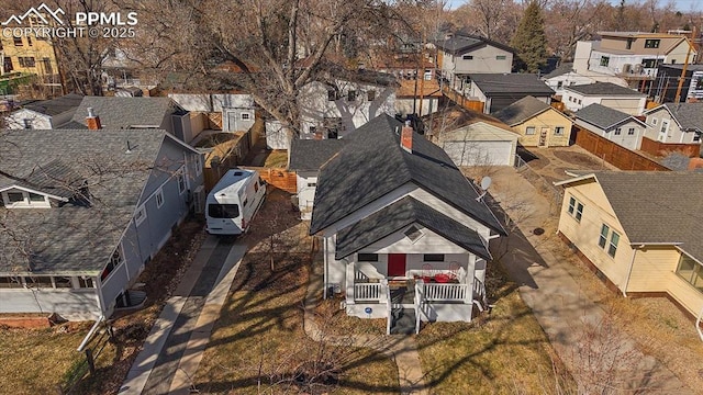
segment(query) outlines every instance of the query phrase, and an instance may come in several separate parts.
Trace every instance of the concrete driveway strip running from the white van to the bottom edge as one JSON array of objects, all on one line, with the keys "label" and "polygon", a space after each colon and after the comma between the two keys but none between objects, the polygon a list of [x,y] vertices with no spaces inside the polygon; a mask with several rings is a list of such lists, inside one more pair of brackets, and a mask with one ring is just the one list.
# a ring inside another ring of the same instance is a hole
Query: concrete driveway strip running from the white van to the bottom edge
[{"label": "concrete driveway strip running from the white van to the bottom edge", "polygon": [[209,236],[164,306],[120,394],[188,394],[246,246]]}]

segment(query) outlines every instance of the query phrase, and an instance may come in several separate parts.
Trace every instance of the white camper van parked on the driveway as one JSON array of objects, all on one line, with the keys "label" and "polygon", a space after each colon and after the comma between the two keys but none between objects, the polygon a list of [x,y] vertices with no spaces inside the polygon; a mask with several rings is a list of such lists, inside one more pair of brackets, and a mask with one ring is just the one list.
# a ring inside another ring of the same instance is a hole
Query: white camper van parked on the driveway
[{"label": "white camper van parked on the driveway", "polygon": [[211,235],[241,235],[264,202],[266,183],[253,170],[228,170],[208,195],[205,219]]}]

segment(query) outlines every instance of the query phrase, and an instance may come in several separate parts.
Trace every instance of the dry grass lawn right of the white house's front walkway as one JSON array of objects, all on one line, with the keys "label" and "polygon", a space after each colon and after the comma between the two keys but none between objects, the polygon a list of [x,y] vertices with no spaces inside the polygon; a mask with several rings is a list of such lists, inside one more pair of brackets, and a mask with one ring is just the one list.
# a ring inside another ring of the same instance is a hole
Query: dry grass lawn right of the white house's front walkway
[{"label": "dry grass lawn right of the white house's front walkway", "polygon": [[[493,270],[499,269],[493,266]],[[417,335],[425,382],[436,394],[573,393],[573,382],[517,287],[503,273],[495,307],[472,323],[433,323]],[[490,290],[489,290],[490,292]],[[557,387],[560,390],[557,390]]]}]

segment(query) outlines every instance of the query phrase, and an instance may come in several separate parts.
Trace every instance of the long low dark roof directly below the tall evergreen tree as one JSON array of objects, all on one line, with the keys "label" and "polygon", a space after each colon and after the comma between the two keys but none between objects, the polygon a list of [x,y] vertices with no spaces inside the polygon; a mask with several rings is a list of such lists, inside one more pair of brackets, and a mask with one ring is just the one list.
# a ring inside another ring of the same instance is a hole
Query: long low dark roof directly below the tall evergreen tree
[{"label": "long low dark roof directly below the tall evergreen tree", "polygon": [[537,75],[532,74],[472,74],[469,76],[487,95],[551,95],[549,88]]}]

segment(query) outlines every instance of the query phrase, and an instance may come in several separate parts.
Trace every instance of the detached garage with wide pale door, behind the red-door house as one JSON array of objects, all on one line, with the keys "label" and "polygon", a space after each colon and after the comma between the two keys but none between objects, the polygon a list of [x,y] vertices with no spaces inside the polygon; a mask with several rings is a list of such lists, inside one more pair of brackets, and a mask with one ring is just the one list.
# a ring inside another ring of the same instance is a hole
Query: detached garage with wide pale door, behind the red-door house
[{"label": "detached garage with wide pale door, behind the red-door house", "polygon": [[518,135],[477,122],[439,136],[438,145],[457,166],[513,166]]}]

